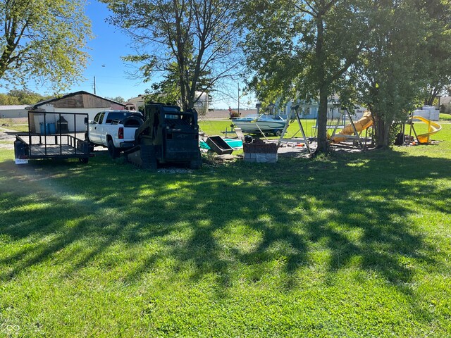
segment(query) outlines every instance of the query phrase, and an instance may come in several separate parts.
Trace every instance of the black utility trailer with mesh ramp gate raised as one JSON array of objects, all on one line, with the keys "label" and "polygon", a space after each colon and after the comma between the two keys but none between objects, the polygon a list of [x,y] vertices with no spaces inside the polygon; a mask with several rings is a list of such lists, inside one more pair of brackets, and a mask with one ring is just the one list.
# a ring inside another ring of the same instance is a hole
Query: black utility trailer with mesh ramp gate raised
[{"label": "black utility trailer with mesh ramp gate raised", "polygon": [[[28,133],[18,134],[14,142],[16,163],[43,158],[89,160],[85,141],[86,113],[28,112]],[[81,139],[81,137],[83,139]]]}]

